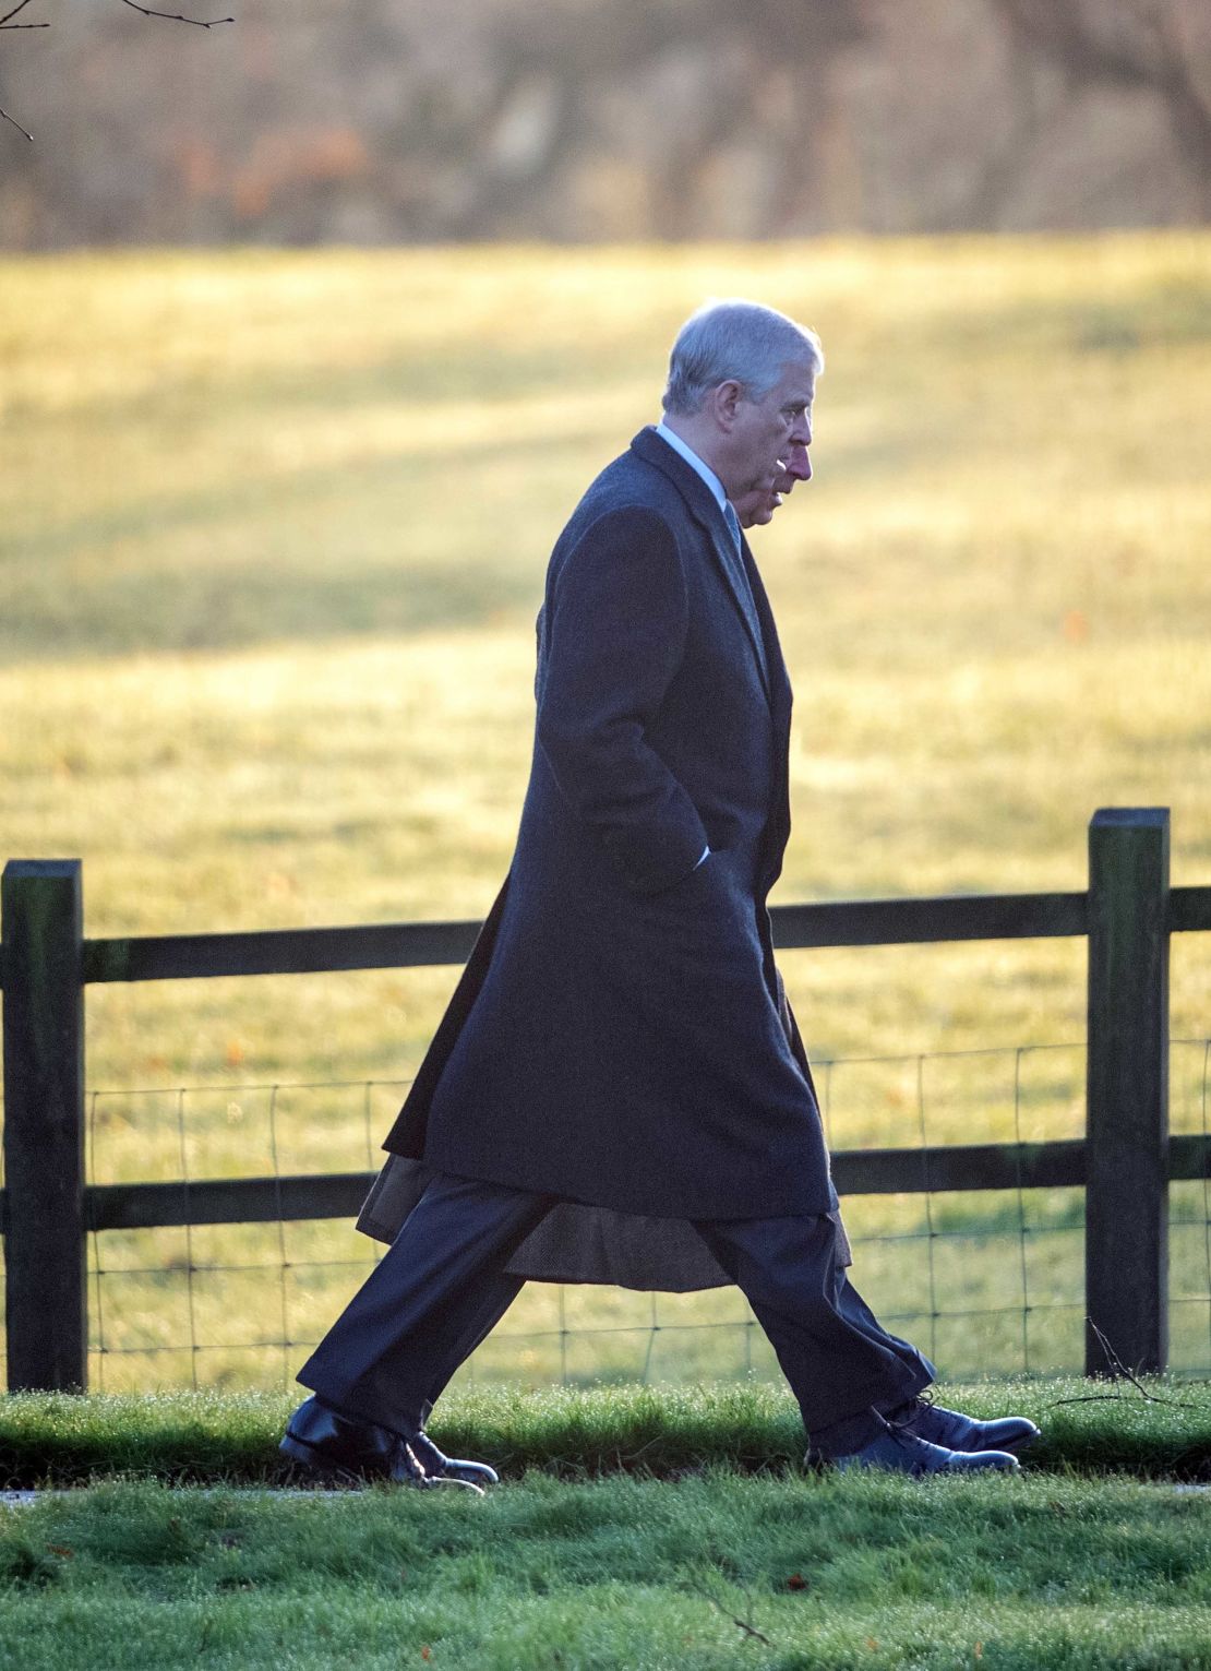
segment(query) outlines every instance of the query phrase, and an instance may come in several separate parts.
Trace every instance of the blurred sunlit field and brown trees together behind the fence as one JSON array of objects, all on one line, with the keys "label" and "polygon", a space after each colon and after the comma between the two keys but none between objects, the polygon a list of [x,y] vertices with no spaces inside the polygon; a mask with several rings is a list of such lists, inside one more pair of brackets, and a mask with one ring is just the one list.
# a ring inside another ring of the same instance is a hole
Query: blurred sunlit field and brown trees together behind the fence
[{"label": "blurred sunlit field and brown trees together behind the fence", "polygon": [[[753,540],[797,690],[775,902],[1081,889],[1099,805],[1171,807],[1211,882],[1203,0],[232,8],[30,0],[0,42],[35,135],[0,124],[0,859],[84,859],[90,936],[483,916],[551,543],[680,321],[750,294],[828,356],[815,480]],[[1082,942],[782,966],[835,1146],[1081,1136]],[[89,988],[90,1178],[372,1168],[456,974]],[[1208,1186],[1171,1205],[1206,1370]],[[1079,1190],[845,1211],[947,1374],[1079,1367]],[[282,1385],[371,1257],[92,1237],[94,1384]],[[733,1290],[531,1285],[468,1374],[775,1369]]]}]

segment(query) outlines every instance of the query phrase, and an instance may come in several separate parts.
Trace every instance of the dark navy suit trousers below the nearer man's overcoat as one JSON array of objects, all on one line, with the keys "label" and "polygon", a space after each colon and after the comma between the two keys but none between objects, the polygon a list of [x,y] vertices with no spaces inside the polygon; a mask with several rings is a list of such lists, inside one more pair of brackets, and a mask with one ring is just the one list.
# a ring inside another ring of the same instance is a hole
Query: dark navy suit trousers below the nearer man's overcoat
[{"label": "dark navy suit trousers below the nearer man's overcoat", "polygon": [[[521,1278],[504,1267],[556,1201],[434,1178],[299,1370],[302,1385],[351,1417],[418,1432],[519,1292]],[[934,1379],[929,1360],[882,1328],[837,1263],[837,1227],[827,1215],[703,1218],[693,1227],[773,1345],[813,1449],[857,1449],[875,1425],[872,1410],[897,1409]]]}]

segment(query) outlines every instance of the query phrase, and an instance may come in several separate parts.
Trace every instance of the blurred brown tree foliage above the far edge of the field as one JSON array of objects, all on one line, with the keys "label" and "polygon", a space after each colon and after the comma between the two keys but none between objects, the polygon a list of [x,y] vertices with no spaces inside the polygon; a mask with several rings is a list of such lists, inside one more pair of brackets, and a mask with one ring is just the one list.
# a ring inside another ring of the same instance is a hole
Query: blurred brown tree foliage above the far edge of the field
[{"label": "blurred brown tree foliage above the far edge of the field", "polygon": [[53,3],[0,43],[8,247],[1211,214],[1206,0]]}]

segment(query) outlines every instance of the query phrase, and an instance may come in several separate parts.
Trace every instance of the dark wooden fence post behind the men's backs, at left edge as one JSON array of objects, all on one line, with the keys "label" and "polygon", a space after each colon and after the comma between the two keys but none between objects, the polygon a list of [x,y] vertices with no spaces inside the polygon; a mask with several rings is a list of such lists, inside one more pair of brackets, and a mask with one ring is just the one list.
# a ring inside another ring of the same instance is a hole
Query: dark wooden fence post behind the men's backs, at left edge
[{"label": "dark wooden fence post behind the men's backs, at left edge", "polygon": [[13,859],[5,952],[8,1390],[84,1389],[84,904],[79,859]]}]

